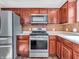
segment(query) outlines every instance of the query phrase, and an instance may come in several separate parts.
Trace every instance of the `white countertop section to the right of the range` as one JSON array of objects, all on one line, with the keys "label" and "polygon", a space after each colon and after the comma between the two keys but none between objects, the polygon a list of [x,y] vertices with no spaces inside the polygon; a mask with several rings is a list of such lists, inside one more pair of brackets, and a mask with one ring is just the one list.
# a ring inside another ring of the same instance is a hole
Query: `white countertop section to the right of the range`
[{"label": "white countertop section to the right of the range", "polygon": [[77,32],[58,31],[58,32],[52,33],[52,35],[57,35],[73,43],[79,44],[79,33]]}]

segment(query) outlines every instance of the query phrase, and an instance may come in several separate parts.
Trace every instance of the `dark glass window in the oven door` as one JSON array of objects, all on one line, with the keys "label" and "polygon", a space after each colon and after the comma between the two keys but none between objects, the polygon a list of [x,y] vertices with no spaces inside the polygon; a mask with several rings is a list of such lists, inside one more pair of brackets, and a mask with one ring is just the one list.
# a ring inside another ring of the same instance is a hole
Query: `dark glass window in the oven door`
[{"label": "dark glass window in the oven door", "polygon": [[47,40],[31,40],[31,50],[47,50]]}]

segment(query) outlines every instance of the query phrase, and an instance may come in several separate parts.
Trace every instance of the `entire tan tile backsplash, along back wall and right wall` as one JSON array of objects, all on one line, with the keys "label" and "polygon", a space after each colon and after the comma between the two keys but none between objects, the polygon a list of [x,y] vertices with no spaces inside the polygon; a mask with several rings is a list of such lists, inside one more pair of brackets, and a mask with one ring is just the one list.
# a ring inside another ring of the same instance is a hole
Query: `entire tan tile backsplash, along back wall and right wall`
[{"label": "entire tan tile backsplash, along back wall and right wall", "polygon": [[46,28],[47,31],[79,32],[79,22],[74,24],[47,24],[47,25],[23,25],[23,31],[32,31],[33,28]]}]

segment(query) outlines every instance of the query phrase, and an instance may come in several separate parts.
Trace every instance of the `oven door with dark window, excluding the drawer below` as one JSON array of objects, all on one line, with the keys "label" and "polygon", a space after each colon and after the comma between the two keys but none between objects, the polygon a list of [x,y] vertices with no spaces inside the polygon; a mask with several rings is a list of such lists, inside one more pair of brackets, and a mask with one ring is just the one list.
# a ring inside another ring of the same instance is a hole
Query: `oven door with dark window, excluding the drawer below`
[{"label": "oven door with dark window, excluding the drawer below", "polygon": [[48,40],[30,40],[30,52],[48,52]]}]

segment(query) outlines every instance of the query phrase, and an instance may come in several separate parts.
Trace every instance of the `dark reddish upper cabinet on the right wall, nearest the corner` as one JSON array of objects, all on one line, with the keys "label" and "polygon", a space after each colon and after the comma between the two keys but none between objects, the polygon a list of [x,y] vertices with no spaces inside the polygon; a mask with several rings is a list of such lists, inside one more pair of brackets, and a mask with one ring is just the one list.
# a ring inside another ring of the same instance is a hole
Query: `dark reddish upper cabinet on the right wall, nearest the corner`
[{"label": "dark reddish upper cabinet on the right wall, nearest the corner", "polygon": [[67,23],[68,22],[68,3],[65,3],[60,8],[60,23]]}]

